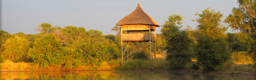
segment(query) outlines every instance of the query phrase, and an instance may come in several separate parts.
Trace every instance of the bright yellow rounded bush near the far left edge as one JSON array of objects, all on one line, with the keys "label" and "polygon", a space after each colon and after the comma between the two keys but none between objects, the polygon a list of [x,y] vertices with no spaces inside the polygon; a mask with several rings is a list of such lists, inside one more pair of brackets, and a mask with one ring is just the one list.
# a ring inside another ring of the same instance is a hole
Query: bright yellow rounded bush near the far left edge
[{"label": "bright yellow rounded bush near the far left edge", "polygon": [[9,38],[5,42],[6,50],[3,55],[13,62],[24,61],[27,59],[28,46],[28,40],[23,37],[15,36],[14,38]]}]

